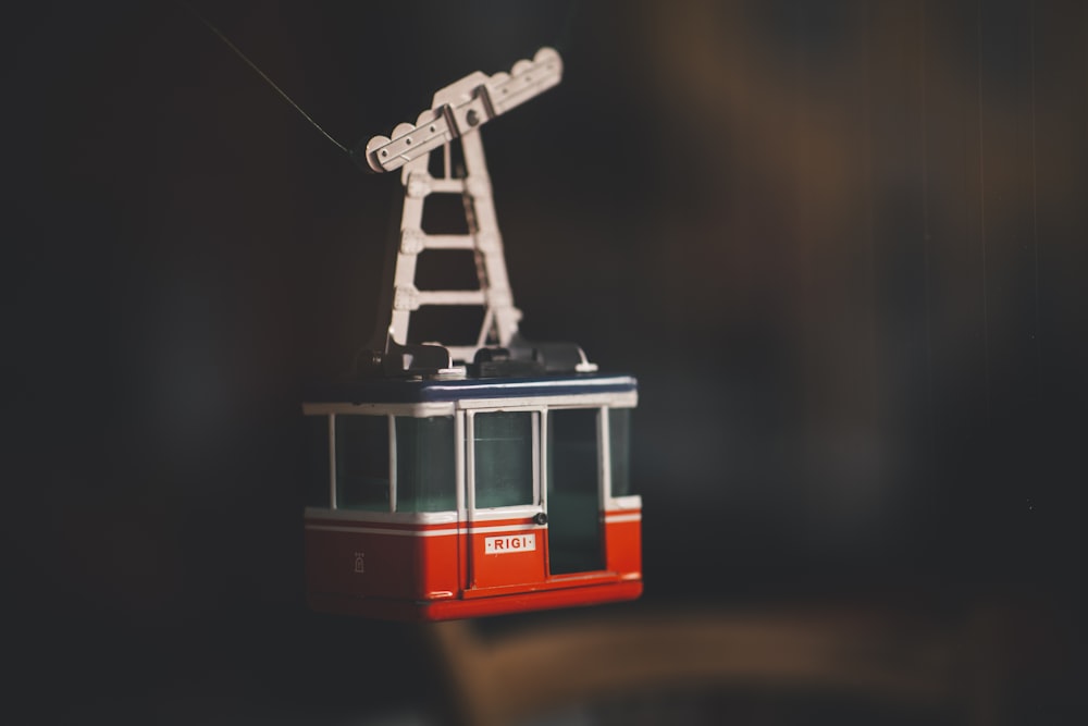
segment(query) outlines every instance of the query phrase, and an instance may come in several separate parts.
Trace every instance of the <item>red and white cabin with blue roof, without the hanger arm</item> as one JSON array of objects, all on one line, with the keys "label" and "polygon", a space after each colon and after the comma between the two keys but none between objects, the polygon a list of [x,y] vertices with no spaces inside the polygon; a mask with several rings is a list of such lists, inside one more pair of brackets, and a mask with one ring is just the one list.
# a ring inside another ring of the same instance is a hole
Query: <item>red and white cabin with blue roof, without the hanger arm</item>
[{"label": "red and white cabin with blue roof, without the hanger arm", "polygon": [[309,604],[441,620],[642,592],[628,376],[371,380],[304,406]]}]

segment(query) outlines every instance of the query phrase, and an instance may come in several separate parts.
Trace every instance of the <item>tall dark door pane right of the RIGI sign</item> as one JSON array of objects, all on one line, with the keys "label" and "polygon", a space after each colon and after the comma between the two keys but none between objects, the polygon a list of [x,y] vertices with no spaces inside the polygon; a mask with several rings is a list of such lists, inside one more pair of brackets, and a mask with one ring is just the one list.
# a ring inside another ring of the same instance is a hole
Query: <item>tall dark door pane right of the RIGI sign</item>
[{"label": "tall dark door pane right of the RIGI sign", "polygon": [[553,575],[604,569],[596,408],[548,414],[548,559]]}]

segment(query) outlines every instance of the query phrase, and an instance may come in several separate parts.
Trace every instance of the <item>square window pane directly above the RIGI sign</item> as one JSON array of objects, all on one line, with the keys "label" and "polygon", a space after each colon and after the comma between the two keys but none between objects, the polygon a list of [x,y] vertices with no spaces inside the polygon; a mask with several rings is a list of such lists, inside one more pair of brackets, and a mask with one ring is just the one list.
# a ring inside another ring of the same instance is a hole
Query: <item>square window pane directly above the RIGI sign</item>
[{"label": "square window pane directly above the RIGI sign", "polygon": [[473,418],[478,508],[533,504],[532,411]]}]

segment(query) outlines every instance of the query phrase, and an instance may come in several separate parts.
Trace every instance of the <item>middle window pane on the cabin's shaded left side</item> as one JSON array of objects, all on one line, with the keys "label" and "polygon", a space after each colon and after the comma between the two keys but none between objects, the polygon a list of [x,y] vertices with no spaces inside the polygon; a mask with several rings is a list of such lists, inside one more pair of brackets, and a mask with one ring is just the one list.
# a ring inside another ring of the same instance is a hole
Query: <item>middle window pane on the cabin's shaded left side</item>
[{"label": "middle window pane on the cabin's shaded left side", "polygon": [[390,510],[390,420],[336,417],[336,505]]}]

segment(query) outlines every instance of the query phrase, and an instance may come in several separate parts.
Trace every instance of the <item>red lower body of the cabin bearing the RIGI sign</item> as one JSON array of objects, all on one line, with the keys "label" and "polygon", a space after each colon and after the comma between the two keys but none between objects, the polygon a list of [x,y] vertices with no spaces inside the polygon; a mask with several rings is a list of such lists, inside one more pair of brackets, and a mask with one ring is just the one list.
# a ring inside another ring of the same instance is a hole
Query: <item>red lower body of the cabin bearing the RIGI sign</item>
[{"label": "red lower body of the cabin bearing the RIGI sign", "polygon": [[531,519],[480,525],[307,520],[313,610],[446,620],[634,600],[642,594],[638,513],[603,522],[606,565],[549,575],[548,529]]}]

